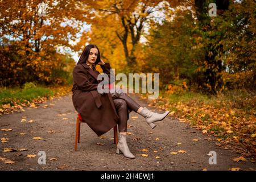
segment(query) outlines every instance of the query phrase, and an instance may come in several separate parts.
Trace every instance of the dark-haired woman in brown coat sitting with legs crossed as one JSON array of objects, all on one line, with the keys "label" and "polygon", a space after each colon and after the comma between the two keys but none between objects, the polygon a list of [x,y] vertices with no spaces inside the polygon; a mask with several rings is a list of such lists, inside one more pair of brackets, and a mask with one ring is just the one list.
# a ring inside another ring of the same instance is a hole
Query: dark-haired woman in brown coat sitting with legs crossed
[{"label": "dark-haired woman in brown coat sitting with legs crossed", "polygon": [[122,89],[116,89],[114,93],[98,93],[97,87],[100,81],[97,80],[97,76],[100,72],[95,68],[97,64],[110,78],[110,64],[104,63],[101,59],[100,51],[96,45],[89,44],[85,47],[73,69],[73,105],[98,136],[118,125],[117,154],[123,153],[127,158],[135,158],[126,143],[129,113],[135,111],[135,113],[141,114],[146,118],[148,125],[154,129],[156,126],[154,122],[162,121],[169,111],[163,114],[151,112],[123,93]]}]

